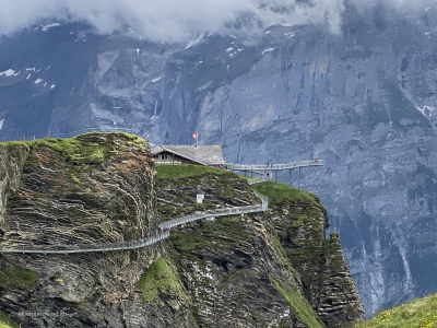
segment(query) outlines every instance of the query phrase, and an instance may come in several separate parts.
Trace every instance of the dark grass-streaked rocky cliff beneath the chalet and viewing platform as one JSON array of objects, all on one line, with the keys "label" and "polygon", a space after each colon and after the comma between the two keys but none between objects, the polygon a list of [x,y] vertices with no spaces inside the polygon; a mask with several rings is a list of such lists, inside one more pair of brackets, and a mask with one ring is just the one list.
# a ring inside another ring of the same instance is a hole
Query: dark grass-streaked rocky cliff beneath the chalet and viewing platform
[{"label": "dark grass-streaked rocky cliff beneath the chalet and viewing platform", "polygon": [[[229,173],[220,179],[208,173],[158,178],[157,186],[160,202],[175,210],[194,206],[198,194],[205,195],[210,208],[241,206],[253,197],[245,180]],[[198,325],[322,327],[322,321],[352,327],[362,320],[363,303],[338,235],[324,237],[328,219],[319,200],[274,183],[257,189],[270,196],[268,213],[205,221],[172,233],[173,258]]]}]

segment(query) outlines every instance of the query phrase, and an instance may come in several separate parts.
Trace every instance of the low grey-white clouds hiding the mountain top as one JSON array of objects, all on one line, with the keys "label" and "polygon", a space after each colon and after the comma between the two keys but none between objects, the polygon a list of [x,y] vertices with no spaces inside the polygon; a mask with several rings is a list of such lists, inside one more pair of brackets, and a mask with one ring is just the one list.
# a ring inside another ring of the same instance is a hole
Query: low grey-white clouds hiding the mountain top
[{"label": "low grey-white clouds hiding the mountain top", "polygon": [[[241,13],[251,13],[262,27],[284,23],[326,23],[340,32],[344,0],[312,0],[314,5],[295,0],[0,0],[0,33],[11,34],[40,19],[83,21],[98,33],[109,34],[128,24],[154,42],[186,42],[201,32],[215,32]],[[382,1],[400,11],[424,10],[436,0],[353,0],[357,3]],[[279,13],[272,7],[288,9]]]}]

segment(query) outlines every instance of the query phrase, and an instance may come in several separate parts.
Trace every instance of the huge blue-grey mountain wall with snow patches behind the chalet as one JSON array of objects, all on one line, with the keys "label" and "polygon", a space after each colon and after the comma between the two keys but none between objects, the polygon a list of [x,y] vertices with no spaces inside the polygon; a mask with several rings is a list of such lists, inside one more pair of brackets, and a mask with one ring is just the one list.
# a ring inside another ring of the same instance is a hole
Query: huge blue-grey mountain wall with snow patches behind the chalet
[{"label": "huge blue-grey mountain wall with snow patches behind the chalet", "polygon": [[371,315],[437,290],[435,16],[346,5],[340,35],[271,26],[190,47],[36,26],[0,43],[0,139],[197,131],[228,162],[327,160],[292,180],[326,204]]}]

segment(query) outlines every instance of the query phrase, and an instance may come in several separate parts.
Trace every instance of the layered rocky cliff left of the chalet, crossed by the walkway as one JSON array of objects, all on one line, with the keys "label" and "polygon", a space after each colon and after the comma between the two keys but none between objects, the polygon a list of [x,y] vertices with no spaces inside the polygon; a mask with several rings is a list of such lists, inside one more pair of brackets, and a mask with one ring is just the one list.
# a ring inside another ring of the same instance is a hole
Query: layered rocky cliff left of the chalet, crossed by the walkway
[{"label": "layered rocky cliff left of the chalet, crossed by the walkway", "polygon": [[[152,160],[137,137],[91,133],[0,148],[2,247],[138,239],[157,224]],[[134,292],[164,251],[4,254],[0,311],[26,327],[192,327],[184,298],[144,304]]]}]

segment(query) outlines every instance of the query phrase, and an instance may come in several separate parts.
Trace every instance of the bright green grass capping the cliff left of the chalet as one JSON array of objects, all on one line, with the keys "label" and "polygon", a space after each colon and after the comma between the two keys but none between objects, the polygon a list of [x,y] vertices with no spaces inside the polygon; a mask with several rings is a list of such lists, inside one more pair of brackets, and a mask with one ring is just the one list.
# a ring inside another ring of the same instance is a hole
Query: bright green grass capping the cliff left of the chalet
[{"label": "bright green grass capping the cliff left of the chalet", "polygon": [[144,150],[146,141],[138,136],[126,132],[90,132],[73,138],[45,138],[31,141],[0,142],[0,148],[12,150],[14,147],[25,147],[28,150],[49,148],[61,154],[72,164],[99,164],[110,155],[117,147],[116,139],[122,139],[130,145]]}]

